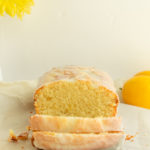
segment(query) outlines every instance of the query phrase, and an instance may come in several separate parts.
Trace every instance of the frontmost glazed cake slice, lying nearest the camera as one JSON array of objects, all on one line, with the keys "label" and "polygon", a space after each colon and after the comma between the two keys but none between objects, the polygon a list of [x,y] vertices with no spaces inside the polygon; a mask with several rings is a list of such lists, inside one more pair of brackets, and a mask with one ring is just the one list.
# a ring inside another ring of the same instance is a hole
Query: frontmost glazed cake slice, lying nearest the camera
[{"label": "frontmost glazed cake slice, lying nearest the camera", "polygon": [[72,134],[33,132],[33,145],[45,150],[119,150],[124,133]]}]

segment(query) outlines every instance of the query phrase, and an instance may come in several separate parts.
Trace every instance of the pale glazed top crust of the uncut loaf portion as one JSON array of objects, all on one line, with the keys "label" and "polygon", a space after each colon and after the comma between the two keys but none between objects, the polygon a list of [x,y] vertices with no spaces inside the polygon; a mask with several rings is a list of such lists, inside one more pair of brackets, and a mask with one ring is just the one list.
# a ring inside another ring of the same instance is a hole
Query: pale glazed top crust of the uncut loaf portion
[{"label": "pale glazed top crust of the uncut loaf portion", "polygon": [[95,86],[103,86],[108,90],[114,92],[116,95],[116,89],[114,87],[111,77],[103,71],[99,71],[94,67],[80,67],[80,66],[65,66],[52,68],[46,72],[39,79],[38,89],[44,85],[50,84],[55,81],[93,81]]}]

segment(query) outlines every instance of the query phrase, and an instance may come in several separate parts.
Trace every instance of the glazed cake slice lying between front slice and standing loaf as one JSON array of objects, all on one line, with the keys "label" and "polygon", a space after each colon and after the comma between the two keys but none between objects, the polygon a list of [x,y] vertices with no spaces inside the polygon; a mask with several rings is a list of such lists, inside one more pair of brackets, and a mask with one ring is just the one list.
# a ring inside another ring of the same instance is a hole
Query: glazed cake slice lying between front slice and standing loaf
[{"label": "glazed cake slice lying between front slice and standing loaf", "polygon": [[120,117],[83,118],[34,115],[30,119],[32,131],[51,131],[59,133],[101,133],[122,131]]}]

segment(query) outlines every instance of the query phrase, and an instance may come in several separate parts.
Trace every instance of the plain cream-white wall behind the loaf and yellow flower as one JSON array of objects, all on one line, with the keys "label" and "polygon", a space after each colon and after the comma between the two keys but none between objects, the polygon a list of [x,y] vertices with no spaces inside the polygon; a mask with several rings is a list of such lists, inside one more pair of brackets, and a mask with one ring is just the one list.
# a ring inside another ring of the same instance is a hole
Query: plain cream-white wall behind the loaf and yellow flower
[{"label": "plain cream-white wall behind the loaf and yellow flower", "polygon": [[70,64],[95,66],[114,79],[150,70],[150,1],[35,0],[23,21],[0,17],[4,80]]}]

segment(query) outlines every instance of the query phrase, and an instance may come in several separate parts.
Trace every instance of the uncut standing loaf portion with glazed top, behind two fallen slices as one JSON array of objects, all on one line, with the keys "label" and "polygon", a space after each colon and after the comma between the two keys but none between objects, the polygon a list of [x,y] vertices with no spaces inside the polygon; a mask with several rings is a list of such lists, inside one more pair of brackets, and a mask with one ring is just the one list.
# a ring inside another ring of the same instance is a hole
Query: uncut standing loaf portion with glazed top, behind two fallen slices
[{"label": "uncut standing loaf portion with glazed top, behind two fallen slices", "polygon": [[53,68],[39,80],[36,114],[71,117],[114,117],[118,96],[107,73],[92,67]]}]

